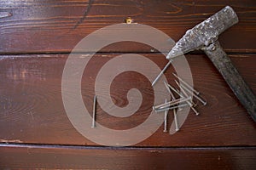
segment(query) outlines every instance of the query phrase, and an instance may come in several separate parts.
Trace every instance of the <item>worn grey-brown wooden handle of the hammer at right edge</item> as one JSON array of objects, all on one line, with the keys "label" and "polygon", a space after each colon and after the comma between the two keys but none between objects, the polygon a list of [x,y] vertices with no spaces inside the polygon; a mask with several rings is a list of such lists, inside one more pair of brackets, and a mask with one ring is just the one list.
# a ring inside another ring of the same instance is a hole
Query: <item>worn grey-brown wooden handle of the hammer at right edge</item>
[{"label": "worn grey-brown wooden handle of the hammer at right edge", "polygon": [[232,64],[230,58],[225,54],[219,42],[215,42],[207,48],[202,49],[213,65],[218,69],[224,80],[229,84],[230,88],[240,100],[241,105],[245,107],[250,116],[256,122],[256,96],[247,83],[242,79],[236,67]]}]

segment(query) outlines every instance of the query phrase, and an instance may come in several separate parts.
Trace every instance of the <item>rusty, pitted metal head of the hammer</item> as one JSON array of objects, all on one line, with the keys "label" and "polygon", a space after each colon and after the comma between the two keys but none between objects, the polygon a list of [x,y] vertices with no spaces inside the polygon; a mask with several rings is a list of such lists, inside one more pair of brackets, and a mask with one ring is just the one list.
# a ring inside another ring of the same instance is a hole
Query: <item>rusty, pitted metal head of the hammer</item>
[{"label": "rusty, pitted metal head of the hammer", "polygon": [[209,46],[218,40],[218,35],[230,26],[238,22],[237,15],[233,8],[226,6],[218,13],[213,14],[207,20],[202,21],[186,32],[186,34],[176,43],[167,54],[166,59],[172,59],[179,55],[186,54],[195,49]]}]

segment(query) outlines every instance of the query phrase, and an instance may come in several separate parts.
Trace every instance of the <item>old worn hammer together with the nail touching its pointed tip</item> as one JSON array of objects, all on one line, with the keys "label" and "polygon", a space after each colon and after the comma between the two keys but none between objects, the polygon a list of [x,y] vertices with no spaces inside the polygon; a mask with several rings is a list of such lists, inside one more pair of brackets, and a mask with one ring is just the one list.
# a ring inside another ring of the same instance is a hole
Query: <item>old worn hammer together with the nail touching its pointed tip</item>
[{"label": "old worn hammer together with the nail touching its pointed tip", "polygon": [[[224,77],[224,80],[228,83],[233,93],[236,94],[241,105],[245,107],[250,116],[252,116],[253,121],[256,122],[256,96],[242,79],[236,67],[232,64],[230,58],[225,54],[218,42],[218,35],[237,22],[238,18],[233,8],[226,6],[207,20],[186,31],[185,35],[175,44],[169,54],[167,54],[166,59],[170,61],[160,72],[160,75],[172,63],[173,58],[195,49],[201,49],[212,60],[213,65],[215,65]],[[154,82],[157,81],[160,75]],[[152,83],[153,85],[154,82]]]}]

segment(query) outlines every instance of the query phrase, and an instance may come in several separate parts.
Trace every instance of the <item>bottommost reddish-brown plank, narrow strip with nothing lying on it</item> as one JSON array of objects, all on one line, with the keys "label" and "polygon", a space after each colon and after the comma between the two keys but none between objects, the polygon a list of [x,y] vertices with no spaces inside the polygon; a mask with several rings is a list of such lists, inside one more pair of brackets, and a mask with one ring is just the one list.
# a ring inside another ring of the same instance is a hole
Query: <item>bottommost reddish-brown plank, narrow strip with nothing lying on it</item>
[{"label": "bottommost reddish-brown plank, narrow strip with nothing lying on it", "polygon": [[255,148],[92,148],[0,145],[1,168],[255,169]]}]

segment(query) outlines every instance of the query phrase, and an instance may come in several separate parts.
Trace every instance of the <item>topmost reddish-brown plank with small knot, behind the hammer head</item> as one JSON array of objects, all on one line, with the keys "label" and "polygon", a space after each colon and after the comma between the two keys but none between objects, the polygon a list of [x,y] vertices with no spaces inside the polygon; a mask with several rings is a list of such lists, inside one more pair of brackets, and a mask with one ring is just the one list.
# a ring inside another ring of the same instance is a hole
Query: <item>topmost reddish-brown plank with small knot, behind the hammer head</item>
[{"label": "topmost reddish-brown plank with small knot, behind the hammer head", "polygon": [[[70,52],[85,36],[104,26],[134,22],[153,26],[177,41],[186,30],[225,5],[236,10],[239,24],[225,31],[220,42],[229,52],[255,53],[256,3],[246,1],[77,0],[0,1],[0,53]],[[151,52],[137,43],[113,44],[103,52]]]}]

